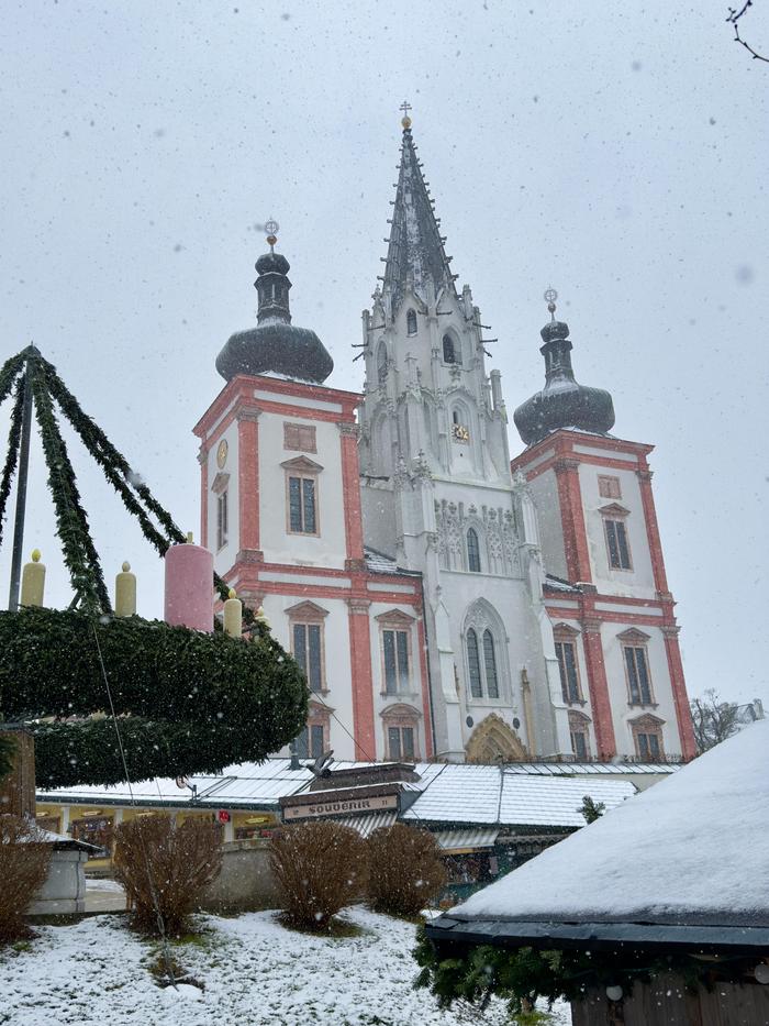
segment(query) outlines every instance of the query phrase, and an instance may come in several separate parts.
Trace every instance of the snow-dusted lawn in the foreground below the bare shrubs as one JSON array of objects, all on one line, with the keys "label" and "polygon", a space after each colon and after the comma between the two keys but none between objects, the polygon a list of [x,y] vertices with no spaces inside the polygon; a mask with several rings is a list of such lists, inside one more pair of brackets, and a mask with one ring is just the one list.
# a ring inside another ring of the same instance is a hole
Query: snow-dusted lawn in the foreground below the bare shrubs
[{"label": "snow-dusted lawn in the foreground below the bare shrubs", "polygon": [[[439,1012],[414,991],[414,926],[365,908],[344,918],[359,933],[315,937],[282,927],[275,912],[200,916],[202,935],[172,945],[172,957],[204,990],[160,989],[149,967],[158,948],[122,915],[36,927],[21,950],[0,951],[0,1024],[65,1026],[459,1026],[506,1023],[498,1003]],[[570,1023],[568,1011],[555,1017]]]}]

